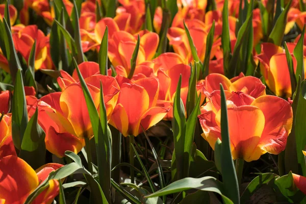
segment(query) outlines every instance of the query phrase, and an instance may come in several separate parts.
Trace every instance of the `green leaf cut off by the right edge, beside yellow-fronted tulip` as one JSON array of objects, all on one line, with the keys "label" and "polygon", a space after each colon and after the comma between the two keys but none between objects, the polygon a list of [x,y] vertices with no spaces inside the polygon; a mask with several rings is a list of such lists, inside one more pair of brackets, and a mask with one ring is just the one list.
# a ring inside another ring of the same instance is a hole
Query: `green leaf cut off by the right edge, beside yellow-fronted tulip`
[{"label": "green leaf cut off by the right edge, beside yellow-fronted tulip", "polygon": [[305,25],[301,33],[301,36],[293,50],[293,55],[297,62],[295,77],[297,78],[300,75],[302,79],[304,79],[304,55],[303,55],[304,34],[305,34]]}]

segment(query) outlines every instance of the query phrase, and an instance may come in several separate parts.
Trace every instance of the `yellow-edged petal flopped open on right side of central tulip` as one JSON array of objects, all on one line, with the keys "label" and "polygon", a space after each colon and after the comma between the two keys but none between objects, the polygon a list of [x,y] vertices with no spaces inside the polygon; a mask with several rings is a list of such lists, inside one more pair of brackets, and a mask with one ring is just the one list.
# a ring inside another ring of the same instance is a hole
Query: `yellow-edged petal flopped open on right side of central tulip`
[{"label": "yellow-edged petal flopped open on right side of central tulip", "polygon": [[[167,112],[169,111],[169,108],[170,107],[167,107],[167,108],[152,107],[149,110],[147,110],[140,120],[140,124],[143,126],[143,129],[146,131],[151,126],[153,126],[153,125],[157,124],[159,121],[161,121],[165,117]],[[137,128],[135,129],[135,131],[137,131]],[[136,133],[138,133],[138,134],[142,133],[141,126],[139,126],[138,131]],[[136,135],[136,134],[134,134],[134,135]]]}]

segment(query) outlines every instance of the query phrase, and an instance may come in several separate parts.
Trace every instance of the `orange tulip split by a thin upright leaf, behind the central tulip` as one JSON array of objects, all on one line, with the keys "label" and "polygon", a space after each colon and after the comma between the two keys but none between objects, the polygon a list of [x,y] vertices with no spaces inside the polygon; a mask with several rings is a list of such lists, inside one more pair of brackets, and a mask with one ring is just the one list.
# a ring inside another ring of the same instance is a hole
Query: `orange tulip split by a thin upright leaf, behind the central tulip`
[{"label": "orange tulip split by a thin upright leaf, behind the central tulip", "polygon": [[[127,74],[130,73],[130,61],[136,42],[135,36],[127,32],[118,31],[113,34],[112,39],[109,39],[108,56],[114,67],[121,65],[125,68]],[[151,60],[156,53],[158,43],[159,37],[156,33],[141,32],[136,65]]]}]

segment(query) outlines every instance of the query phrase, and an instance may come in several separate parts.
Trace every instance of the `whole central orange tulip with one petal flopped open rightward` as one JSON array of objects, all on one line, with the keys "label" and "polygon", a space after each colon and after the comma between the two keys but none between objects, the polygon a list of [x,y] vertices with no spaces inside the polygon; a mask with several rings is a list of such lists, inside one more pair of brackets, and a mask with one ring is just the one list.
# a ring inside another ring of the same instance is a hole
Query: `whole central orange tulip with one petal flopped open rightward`
[{"label": "whole central orange tulip with one petal flopped open rightward", "polygon": [[166,108],[156,107],[159,83],[155,78],[132,82],[117,75],[116,79],[120,85],[120,93],[110,124],[124,137],[139,135],[142,133],[140,124],[144,130],[147,130],[162,120],[169,111]]}]

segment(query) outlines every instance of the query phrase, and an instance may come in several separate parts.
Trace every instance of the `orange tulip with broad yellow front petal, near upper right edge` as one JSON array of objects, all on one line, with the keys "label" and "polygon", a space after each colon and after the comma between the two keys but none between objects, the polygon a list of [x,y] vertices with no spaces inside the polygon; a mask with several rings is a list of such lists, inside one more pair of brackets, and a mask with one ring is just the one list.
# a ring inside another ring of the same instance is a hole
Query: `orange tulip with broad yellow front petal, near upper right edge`
[{"label": "orange tulip with broad yellow front petal, near upper right edge", "polygon": [[[291,97],[290,74],[283,49],[272,43],[263,43],[262,52],[256,58],[260,61],[261,72],[270,90],[277,96]],[[292,60],[295,71],[297,63],[293,55]]]}]

